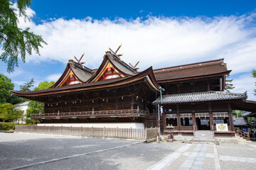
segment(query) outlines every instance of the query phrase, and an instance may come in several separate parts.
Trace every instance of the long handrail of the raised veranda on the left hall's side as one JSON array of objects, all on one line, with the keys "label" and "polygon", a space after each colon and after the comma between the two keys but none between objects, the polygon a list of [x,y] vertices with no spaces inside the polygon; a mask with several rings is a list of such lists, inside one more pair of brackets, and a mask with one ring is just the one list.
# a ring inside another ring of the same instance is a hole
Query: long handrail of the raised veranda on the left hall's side
[{"label": "long handrail of the raised veranda on the left hall's side", "polygon": [[80,111],[80,112],[63,112],[63,113],[43,113],[31,115],[31,118],[50,118],[50,117],[82,117],[82,116],[106,116],[106,115],[146,115],[150,116],[148,111],[139,109],[130,110],[111,110],[111,111]]}]

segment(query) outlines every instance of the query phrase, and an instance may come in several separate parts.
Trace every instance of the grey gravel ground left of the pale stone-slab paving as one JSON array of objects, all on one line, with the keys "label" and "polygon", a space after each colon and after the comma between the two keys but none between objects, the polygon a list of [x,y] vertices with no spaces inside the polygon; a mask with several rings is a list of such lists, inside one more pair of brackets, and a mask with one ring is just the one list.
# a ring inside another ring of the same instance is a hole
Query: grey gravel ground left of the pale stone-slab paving
[{"label": "grey gravel ground left of the pale stone-slab paving", "polygon": [[[0,169],[134,143],[134,141],[117,139],[0,133]],[[129,147],[37,165],[28,169],[134,169],[135,167],[135,169],[145,169],[182,145],[181,142],[175,142],[175,145],[166,142],[160,144],[156,142],[139,143]]]}]

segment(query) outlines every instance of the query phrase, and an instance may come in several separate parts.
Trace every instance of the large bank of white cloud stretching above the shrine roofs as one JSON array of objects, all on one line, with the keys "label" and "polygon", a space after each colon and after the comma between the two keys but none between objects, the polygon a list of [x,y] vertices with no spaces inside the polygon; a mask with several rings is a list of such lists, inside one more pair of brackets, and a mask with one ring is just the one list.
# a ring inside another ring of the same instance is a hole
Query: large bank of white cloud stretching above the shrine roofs
[{"label": "large bank of white cloud stretching above the shrine roofs", "polygon": [[[29,13],[29,16],[35,15],[33,11]],[[255,69],[255,19],[256,14],[250,13],[215,18],[147,16],[146,20],[117,18],[114,21],[90,17],[84,20],[53,18],[53,21],[48,19],[40,25],[33,22],[20,24],[31,27],[48,42],[41,49],[40,57],[28,56],[27,62],[56,60],[66,63],[73,59],[73,55],[80,57],[85,52],[85,66],[95,69],[102,62],[107,47],[116,50],[122,42],[119,50],[124,54],[122,60],[132,64],[140,60],[138,67],[141,70],[150,66],[156,69],[225,58],[235,77],[235,74],[247,75]],[[49,80],[53,79],[50,76]],[[242,86],[240,79],[245,77],[234,78],[238,86]],[[236,89],[244,91],[238,86]],[[248,93],[252,88],[247,89]]]}]

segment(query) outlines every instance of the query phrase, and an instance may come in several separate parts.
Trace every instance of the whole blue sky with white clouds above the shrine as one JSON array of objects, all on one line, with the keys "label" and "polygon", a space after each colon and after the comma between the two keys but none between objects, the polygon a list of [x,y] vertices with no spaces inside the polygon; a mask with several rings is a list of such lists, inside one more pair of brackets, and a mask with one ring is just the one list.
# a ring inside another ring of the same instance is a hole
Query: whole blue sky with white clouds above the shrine
[{"label": "whole blue sky with white clouds above the shrine", "polygon": [[85,66],[95,69],[108,47],[119,50],[122,60],[140,71],[178,64],[224,58],[235,89],[252,90],[256,69],[256,1],[32,1],[20,18],[21,28],[30,27],[48,42],[41,56],[26,57],[15,72],[0,73],[12,79],[15,89],[34,78],[56,81],[73,55],[85,52]]}]

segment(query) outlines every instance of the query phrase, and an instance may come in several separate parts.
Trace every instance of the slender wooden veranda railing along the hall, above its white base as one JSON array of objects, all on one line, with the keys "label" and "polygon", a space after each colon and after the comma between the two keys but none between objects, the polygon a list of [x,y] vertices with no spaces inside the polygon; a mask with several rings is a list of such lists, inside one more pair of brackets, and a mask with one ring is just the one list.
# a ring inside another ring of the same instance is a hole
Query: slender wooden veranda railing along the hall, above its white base
[{"label": "slender wooden veranda railing along the hall, above its white base", "polygon": [[148,111],[139,109],[112,110],[112,111],[80,111],[65,113],[43,113],[31,115],[32,119],[53,119],[53,118],[102,118],[102,117],[124,117],[124,116],[144,116],[149,117]]}]

